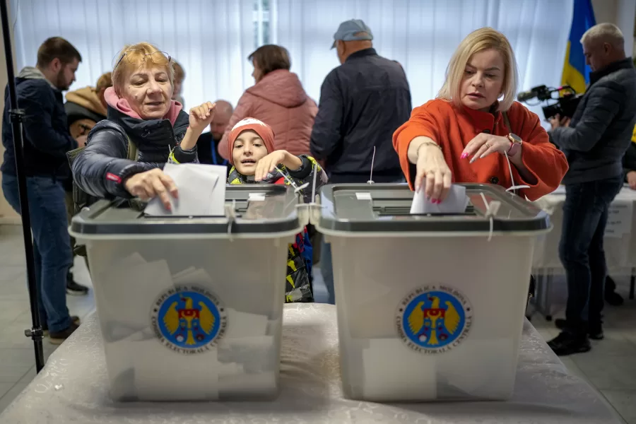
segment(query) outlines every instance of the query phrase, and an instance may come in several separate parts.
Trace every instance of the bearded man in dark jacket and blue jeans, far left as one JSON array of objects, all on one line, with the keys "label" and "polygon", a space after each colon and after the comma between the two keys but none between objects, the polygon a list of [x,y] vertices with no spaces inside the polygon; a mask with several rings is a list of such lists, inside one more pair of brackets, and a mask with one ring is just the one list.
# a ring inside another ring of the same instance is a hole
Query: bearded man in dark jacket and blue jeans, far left
[{"label": "bearded man in dark jacket and blue jeans, far left", "polygon": [[[75,81],[81,56],[61,37],[46,40],[37,50],[37,66],[27,66],[16,78],[18,107],[24,110],[24,163],[30,209],[35,280],[43,328],[51,343],[61,343],[78,327],[66,308],[66,274],[72,265],[71,245],[62,183],[70,177],[66,152],[86,143],[69,134],[62,91]],[[9,110],[4,95],[2,190],[8,204],[20,213],[16,155]]]}]

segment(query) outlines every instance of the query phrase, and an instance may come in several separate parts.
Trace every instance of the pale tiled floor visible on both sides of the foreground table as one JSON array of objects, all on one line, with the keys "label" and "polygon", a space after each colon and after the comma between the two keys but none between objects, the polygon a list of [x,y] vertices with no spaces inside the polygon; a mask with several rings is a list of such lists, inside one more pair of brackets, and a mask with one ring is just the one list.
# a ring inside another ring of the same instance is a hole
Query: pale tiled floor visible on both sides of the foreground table
[{"label": "pale tiled floor visible on both sides of the foreground table", "polygon": [[[33,342],[24,336],[29,328],[30,312],[25,285],[24,252],[19,228],[0,225],[0,411],[22,391],[35,376]],[[76,281],[90,285],[83,261],[76,261]],[[314,290],[318,301],[326,299],[322,278],[317,272]],[[628,278],[618,278],[618,291],[627,298]],[[565,287],[555,281],[555,298],[563,302]],[[95,307],[93,292],[86,297],[68,297],[72,314],[86,317]],[[555,307],[555,316],[563,308]],[[586,379],[608,404],[618,411],[625,423],[636,424],[636,300],[626,300],[621,307],[607,307],[603,341],[592,341],[589,353],[563,358],[572,373]],[[543,338],[558,334],[553,323],[535,314],[532,324]],[[44,340],[45,357],[55,346]]]}]

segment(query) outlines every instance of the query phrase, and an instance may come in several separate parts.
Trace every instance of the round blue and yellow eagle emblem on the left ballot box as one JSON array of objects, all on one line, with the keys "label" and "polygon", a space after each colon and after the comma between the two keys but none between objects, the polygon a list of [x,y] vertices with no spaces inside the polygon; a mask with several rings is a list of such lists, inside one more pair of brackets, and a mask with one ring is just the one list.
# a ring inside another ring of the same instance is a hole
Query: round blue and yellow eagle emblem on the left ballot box
[{"label": "round blue and yellow eagle emblem on the left ballot box", "polygon": [[228,326],[218,299],[194,285],[166,290],[153,304],[151,319],[161,343],[179,353],[209,351]]}]

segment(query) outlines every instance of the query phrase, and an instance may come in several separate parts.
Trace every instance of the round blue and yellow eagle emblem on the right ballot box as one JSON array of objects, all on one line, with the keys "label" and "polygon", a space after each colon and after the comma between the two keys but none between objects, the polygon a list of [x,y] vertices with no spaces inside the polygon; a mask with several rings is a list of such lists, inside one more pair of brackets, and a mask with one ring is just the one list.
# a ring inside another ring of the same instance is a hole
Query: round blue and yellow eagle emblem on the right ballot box
[{"label": "round blue and yellow eagle emblem on the right ballot box", "polygon": [[420,353],[443,353],[464,341],[473,309],[459,290],[444,285],[417,288],[398,307],[398,334]]}]

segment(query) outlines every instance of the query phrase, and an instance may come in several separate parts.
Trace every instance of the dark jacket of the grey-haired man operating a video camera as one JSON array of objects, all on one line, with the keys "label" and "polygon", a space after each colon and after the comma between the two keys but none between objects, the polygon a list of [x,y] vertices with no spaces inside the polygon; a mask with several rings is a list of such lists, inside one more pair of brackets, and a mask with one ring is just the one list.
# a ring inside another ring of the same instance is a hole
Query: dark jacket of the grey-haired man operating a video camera
[{"label": "dark jacket of the grey-haired man operating a video camera", "polygon": [[570,170],[563,184],[623,175],[623,156],[636,121],[636,69],[632,59],[590,74],[590,84],[570,127],[552,131]]}]

